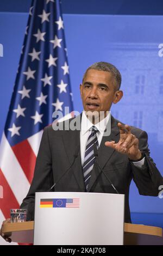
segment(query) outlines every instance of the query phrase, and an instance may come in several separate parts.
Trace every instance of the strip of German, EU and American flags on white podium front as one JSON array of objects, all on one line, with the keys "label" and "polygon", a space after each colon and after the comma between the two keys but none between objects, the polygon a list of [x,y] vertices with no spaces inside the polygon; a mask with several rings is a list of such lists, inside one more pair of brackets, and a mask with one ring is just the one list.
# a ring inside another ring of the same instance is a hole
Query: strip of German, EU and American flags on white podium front
[{"label": "strip of German, EU and American flags on white podium front", "polygon": [[40,208],[80,208],[79,198],[40,199]]}]

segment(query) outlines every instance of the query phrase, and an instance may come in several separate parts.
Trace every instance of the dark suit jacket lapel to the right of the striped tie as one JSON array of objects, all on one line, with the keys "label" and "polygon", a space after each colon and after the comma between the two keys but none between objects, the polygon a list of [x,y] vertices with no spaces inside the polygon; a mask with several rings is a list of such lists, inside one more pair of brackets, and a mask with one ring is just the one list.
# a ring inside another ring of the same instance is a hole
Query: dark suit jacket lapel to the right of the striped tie
[{"label": "dark suit jacket lapel to the right of the striped tie", "polygon": [[[106,147],[105,142],[106,141],[115,141],[115,143],[117,143],[119,141],[119,139],[120,139],[120,131],[117,126],[117,121],[111,115],[111,133],[109,136],[103,136],[101,145],[98,149],[98,158],[97,159],[98,159],[98,163],[102,167],[102,169],[105,167],[105,164],[110,160],[112,154],[114,154],[114,151],[115,151],[115,149]],[[101,174],[101,170],[99,170],[99,168],[97,168],[97,169],[95,169],[95,166],[92,169],[88,192],[91,191],[93,184],[95,183],[99,174]]]}]

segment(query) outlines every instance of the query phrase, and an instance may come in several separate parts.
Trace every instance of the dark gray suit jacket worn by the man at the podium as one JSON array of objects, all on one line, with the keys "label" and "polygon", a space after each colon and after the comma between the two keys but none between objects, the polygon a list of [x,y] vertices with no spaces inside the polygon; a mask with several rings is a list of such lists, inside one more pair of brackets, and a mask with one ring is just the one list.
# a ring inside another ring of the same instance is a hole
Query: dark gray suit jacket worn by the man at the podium
[{"label": "dark gray suit jacket worn by the man at the podium", "polygon": [[[72,119],[73,121],[80,118]],[[155,163],[149,156],[147,143],[147,133],[131,126],[131,133],[139,138],[139,148],[145,153],[145,164],[142,168],[135,167],[126,155],[117,153],[112,148],[105,147],[106,141],[120,139],[120,132],[117,123],[119,121],[111,116],[111,134],[103,137],[98,150],[98,162],[103,171],[108,175],[112,184],[121,194],[125,194],[125,222],[131,222],[129,209],[129,186],[132,179],[144,196],[158,196],[159,185],[163,184],[163,179]],[[54,131],[52,126],[45,128],[37,155],[34,178],[30,186],[27,197],[24,198],[21,208],[28,209],[27,220],[34,220],[35,192],[48,191],[49,188],[60,178],[74,160],[74,152],[80,145],[79,130]],[[56,184],[57,192],[85,192],[83,170],[80,157],[80,150],[73,167]],[[99,170],[97,164],[91,172],[91,179],[88,192],[116,193],[109,184],[104,174]]]}]

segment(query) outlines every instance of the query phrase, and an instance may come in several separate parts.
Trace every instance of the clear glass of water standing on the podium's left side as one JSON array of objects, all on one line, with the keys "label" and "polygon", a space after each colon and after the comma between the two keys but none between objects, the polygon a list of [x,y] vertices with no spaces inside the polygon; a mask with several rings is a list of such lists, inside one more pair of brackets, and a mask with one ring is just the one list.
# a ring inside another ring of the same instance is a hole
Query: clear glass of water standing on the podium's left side
[{"label": "clear glass of water standing on the podium's left side", "polygon": [[27,217],[27,209],[10,209],[11,222],[24,222]]}]

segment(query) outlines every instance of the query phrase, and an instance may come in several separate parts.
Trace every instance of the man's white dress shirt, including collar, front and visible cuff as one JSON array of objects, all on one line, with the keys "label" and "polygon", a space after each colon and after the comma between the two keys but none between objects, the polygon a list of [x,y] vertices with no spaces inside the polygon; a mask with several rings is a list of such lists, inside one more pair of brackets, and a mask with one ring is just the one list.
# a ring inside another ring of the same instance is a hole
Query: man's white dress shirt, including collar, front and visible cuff
[{"label": "man's white dress shirt, including collar, front and visible cuff", "polygon": [[[82,166],[84,163],[84,156],[85,156],[85,148],[86,148],[86,143],[87,139],[91,134],[92,131],[92,126],[94,125],[96,129],[99,131],[96,133],[97,139],[98,139],[98,144],[100,146],[102,137],[106,128],[106,124],[108,123],[110,117],[110,113],[106,115],[106,117],[101,120],[97,124],[92,124],[91,121],[86,117],[85,111],[82,113],[82,123],[81,123],[81,131],[80,131],[80,155],[81,155],[81,161],[82,161]],[[139,162],[133,162],[135,166],[137,167],[142,167],[145,162],[145,157],[143,157],[142,160]]]}]

